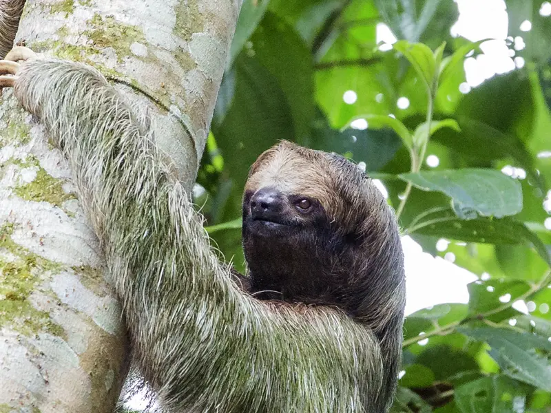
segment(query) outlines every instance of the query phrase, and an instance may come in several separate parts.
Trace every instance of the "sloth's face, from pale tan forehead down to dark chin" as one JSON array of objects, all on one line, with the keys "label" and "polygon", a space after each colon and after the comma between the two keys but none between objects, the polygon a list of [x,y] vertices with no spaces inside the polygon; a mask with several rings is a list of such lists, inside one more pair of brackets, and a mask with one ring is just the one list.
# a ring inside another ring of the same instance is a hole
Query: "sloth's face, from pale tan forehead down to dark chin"
[{"label": "sloth's face, from pale tan forehead down to dark chin", "polygon": [[278,242],[281,237],[290,241],[291,237],[302,244],[301,239],[311,241],[304,235],[329,230],[327,211],[339,199],[331,193],[333,184],[317,165],[320,162],[322,158],[304,158],[286,147],[260,156],[243,195],[245,242],[251,237],[257,242]]}]

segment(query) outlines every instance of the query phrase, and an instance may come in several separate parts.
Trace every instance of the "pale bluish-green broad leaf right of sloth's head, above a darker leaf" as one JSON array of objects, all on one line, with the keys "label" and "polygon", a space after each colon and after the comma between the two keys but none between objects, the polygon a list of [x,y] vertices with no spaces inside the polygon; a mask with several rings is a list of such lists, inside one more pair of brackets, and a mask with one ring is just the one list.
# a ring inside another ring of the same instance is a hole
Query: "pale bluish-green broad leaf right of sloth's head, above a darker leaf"
[{"label": "pale bluish-green broad leaf right of sloth's head, above a darker leaf", "polygon": [[423,191],[445,193],[462,219],[477,215],[501,218],[522,210],[519,182],[493,169],[422,171],[403,173],[400,178]]}]

